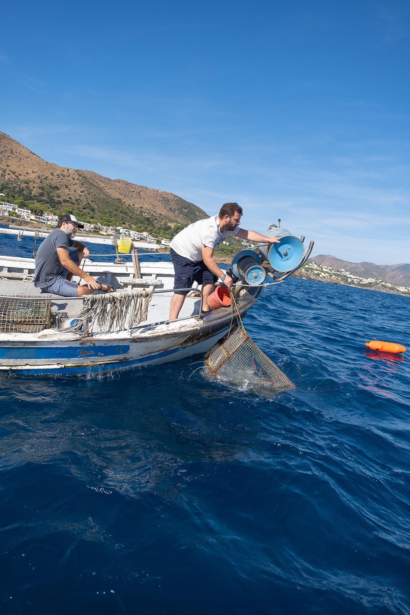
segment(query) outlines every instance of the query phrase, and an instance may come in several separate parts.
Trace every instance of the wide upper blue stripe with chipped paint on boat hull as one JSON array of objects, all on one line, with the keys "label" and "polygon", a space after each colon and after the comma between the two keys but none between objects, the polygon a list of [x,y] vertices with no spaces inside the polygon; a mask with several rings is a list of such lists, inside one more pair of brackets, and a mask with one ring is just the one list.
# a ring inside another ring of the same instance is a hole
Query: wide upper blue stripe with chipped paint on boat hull
[{"label": "wide upper blue stripe with chipped paint on boat hull", "polygon": [[0,348],[1,359],[86,359],[92,357],[115,357],[129,352],[129,346],[9,346]]}]

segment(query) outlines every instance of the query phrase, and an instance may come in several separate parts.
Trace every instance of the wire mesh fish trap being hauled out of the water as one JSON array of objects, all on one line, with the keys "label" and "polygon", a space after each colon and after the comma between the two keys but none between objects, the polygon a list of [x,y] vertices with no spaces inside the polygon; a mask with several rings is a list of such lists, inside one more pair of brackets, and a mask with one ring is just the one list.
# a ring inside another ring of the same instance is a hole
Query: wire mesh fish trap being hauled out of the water
[{"label": "wire mesh fish trap being hauled out of the water", "polygon": [[296,388],[242,327],[236,327],[212,346],[204,361],[212,376],[238,386],[268,386],[278,391]]}]

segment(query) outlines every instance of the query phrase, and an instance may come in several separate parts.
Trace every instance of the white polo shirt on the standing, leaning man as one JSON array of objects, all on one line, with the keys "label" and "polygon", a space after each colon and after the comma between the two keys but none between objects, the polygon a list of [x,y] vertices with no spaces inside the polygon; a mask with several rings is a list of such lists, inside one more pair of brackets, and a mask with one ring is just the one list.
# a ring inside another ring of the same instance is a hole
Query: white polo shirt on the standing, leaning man
[{"label": "white polo shirt on the standing, leaning man", "polygon": [[187,226],[187,228],[175,235],[171,241],[171,248],[180,256],[189,258],[191,261],[201,261],[202,244],[209,248],[217,248],[222,244],[225,237],[235,235],[239,231],[239,226],[235,231],[220,230],[219,216],[211,216],[205,220],[198,220]]}]

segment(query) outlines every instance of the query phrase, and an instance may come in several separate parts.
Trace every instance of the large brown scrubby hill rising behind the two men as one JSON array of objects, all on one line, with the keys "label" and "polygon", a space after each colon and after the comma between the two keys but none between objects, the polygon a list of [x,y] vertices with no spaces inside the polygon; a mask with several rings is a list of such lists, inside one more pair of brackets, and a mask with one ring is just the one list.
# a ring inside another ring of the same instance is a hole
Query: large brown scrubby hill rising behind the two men
[{"label": "large brown scrubby hill rising behind the two men", "polygon": [[199,207],[172,192],[46,162],[4,132],[0,132],[0,188],[43,210],[70,211],[84,221],[135,225],[143,217],[172,226],[206,217]]}]

